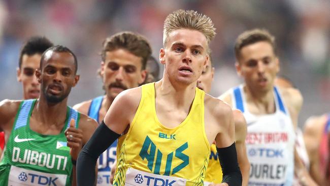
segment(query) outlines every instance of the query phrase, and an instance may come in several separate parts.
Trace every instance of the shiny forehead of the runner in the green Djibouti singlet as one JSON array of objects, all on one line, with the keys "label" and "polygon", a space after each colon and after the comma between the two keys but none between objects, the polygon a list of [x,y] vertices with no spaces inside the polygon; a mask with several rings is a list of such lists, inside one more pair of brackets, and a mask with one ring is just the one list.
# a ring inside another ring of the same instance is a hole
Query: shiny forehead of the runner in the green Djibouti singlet
[{"label": "shiny forehead of the runner in the green Djibouti singlet", "polygon": [[51,64],[52,66],[75,69],[74,56],[69,52],[47,51],[42,63],[43,68]]}]

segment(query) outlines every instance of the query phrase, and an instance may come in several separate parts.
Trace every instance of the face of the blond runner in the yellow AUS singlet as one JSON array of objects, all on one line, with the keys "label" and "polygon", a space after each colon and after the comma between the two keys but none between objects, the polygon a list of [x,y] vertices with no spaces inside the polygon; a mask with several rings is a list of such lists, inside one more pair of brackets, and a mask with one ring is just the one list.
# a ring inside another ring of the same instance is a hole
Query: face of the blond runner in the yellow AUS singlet
[{"label": "face of the blond runner in the yellow AUS singlet", "polygon": [[166,48],[160,50],[164,76],[181,83],[196,83],[205,68],[208,55],[206,37],[197,30],[177,29],[167,38]]}]

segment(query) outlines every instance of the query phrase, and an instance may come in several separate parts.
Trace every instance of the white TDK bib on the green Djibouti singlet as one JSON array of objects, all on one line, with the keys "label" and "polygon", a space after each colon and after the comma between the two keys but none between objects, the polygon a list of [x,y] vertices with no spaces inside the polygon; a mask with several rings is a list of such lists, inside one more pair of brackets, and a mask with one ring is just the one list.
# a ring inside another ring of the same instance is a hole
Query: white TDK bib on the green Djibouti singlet
[{"label": "white TDK bib on the green Djibouti singlet", "polygon": [[15,166],[11,166],[8,185],[65,185],[67,175],[65,174],[49,174],[39,171],[27,170]]}]

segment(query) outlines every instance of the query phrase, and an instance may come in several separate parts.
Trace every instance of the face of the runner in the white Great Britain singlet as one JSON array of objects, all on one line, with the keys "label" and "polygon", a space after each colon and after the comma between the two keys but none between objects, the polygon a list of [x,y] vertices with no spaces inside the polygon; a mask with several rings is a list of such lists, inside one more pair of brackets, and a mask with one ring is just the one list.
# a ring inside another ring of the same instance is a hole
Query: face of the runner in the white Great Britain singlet
[{"label": "face of the runner in the white Great Britain singlet", "polygon": [[241,49],[236,69],[250,88],[270,91],[279,72],[279,61],[272,45],[261,41]]}]

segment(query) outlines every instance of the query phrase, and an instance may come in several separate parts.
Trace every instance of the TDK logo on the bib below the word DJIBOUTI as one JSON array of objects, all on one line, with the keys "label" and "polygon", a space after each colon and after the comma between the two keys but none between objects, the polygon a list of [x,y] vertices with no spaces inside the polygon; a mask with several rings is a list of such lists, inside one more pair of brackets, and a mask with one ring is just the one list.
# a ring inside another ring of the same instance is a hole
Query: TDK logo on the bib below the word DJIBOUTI
[{"label": "TDK logo on the bib below the word DJIBOUTI", "polygon": [[31,179],[29,180],[31,183],[38,183],[40,185],[54,185],[56,186],[55,181],[58,179],[57,177],[47,177],[47,176],[42,176],[42,175],[38,175],[38,174],[32,174],[32,173],[28,173],[28,175],[26,175],[25,172],[21,172],[18,176],[18,179],[20,181],[27,181],[28,177],[30,177]]}]

